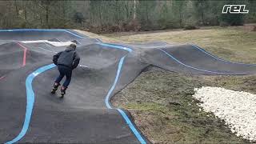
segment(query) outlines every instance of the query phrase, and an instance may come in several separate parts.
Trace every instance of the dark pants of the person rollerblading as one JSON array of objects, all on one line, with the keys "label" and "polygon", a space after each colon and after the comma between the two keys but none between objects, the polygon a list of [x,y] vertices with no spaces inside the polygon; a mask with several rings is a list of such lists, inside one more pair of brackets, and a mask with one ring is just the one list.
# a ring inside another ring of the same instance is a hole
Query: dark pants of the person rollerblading
[{"label": "dark pants of the person rollerblading", "polygon": [[62,86],[64,86],[65,88],[67,88],[67,86],[70,85],[70,81],[71,81],[71,77],[72,77],[72,69],[70,67],[67,66],[62,66],[62,65],[58,65],[58,71],[59,71],[59,76],[56,79],[56,83],[59,83],[62,81],[62,78],[64,76],[66,76],[66,81],[63,83]]}]

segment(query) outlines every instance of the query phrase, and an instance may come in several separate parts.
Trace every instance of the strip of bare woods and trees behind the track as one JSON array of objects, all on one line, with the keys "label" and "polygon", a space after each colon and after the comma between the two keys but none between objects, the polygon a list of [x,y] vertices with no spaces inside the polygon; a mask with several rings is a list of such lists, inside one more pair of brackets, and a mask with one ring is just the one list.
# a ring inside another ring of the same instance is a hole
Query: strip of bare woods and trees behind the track
[{"label": "strip of bare woods and trees behind the track", "polygon": [[[226,4],[246,4],[250,12],[222,14]],[[0,1],[0,28],[70,28],[110,33],[235,26],[245,22],[256,22],[256,1]]]}]

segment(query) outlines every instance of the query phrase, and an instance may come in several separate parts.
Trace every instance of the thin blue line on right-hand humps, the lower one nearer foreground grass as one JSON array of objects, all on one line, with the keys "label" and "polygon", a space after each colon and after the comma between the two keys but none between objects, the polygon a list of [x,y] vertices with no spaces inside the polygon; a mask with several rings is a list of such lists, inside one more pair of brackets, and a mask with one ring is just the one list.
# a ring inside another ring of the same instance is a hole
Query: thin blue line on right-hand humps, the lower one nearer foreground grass
[{"label": "thin blue line on right-hand humps, the lower one nearer foreground grass", "polygon": [[177,58],[174,58],[174,56],[172,56],[171,54],[168,54],[165,50],[162,50],[162,49],[158,49],[158,50],[161,50],[162,52],[164,52],[165,54],[167,54],[170,58],[174,59],[174,61],[176,61],[176,62],[182,64],[183,66],[186,66],[186,67],[189,67],[189,68],[191,68],[191,69],[194,69],[194,70],[204,71],[204,72],[212,73],[212,74],[244,75],[244,74],[232,74],[232,73],[230,74],[230,73],[222,73],[222,72],[216,72],[216,71],[198,69],[198,68],[196,68],[196,67],[188,66],[188,65],[186,65],[185,63],[178,61]]}]

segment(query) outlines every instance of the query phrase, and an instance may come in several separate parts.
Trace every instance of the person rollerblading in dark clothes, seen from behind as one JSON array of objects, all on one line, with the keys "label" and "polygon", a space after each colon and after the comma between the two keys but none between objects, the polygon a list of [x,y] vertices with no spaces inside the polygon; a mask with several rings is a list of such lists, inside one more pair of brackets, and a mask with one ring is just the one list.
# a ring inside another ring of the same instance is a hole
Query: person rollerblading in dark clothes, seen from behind
[{"label": "person rollerblading in dark clothes, seen from behind", "polygon": [[51,90],[52,94],[55,94],[56,90],[58,90],[58,86],[60,86],[60,82],[62,78],[66,76],[66,80],[61,87],[61,94],[60,98],[64,98],[66,94],[66,89],[70,85],[71,77],[72,77],[72,70],[74,70],[79,62],[80,57],[76,51],[76,43],[71,43],[70,46],[66,47],[66,50],[55,54],[53,57],[53,62],[56,66],[58,66],[59,75],[54,82],[53,89]]}]

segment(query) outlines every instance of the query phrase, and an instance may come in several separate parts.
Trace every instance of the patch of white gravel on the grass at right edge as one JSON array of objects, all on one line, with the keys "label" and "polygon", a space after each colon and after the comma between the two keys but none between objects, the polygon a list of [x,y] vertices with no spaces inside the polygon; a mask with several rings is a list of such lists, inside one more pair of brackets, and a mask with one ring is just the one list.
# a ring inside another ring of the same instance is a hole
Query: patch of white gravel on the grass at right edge
[{"label": "patch of white gravel on the grass at right edge", "polygon": [[194,91],[206,112],[224,120],[232,133],[256,142],[256,94],[210,86]]}]

